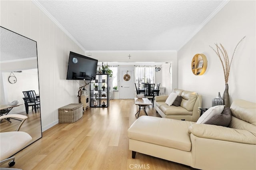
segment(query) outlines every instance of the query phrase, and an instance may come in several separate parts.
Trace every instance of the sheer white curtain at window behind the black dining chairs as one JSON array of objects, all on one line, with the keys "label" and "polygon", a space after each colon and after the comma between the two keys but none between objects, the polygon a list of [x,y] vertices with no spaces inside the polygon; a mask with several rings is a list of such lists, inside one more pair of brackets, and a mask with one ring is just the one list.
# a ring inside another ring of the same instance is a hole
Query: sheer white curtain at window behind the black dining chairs
[{"label": "sheer white curtain at window behind the black dining chairs", "polygon": [[135,83],[138,89],[142,88],[141,83],[155,82],[155,66],[135,65]]}]

